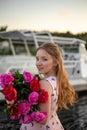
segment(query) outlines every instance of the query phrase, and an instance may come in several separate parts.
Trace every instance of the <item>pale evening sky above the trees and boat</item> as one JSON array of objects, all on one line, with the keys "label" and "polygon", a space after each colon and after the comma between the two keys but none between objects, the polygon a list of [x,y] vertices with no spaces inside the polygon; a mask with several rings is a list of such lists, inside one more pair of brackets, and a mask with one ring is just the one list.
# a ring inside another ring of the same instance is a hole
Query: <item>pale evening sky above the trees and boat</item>
[{"label": "pale evening sky above the trees and boat", "polygon": [[87,32],[87,0],[0,0],[7,30]]}]

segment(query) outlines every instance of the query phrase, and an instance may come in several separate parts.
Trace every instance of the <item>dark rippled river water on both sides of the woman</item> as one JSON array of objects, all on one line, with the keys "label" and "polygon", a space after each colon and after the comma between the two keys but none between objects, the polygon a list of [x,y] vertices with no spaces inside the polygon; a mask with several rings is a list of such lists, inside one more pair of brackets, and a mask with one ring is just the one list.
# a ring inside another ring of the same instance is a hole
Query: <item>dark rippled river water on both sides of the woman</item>
[{"label": "dark rippled river water on both sides of the woman", "polygon": [[[3,112],[0,102],[0,130],[19,130],[17,121],[11,121]],[[65,130],[87,130],[87,91],[78,93],[78,100],[69,110],[61,110],[58,116]]]}]

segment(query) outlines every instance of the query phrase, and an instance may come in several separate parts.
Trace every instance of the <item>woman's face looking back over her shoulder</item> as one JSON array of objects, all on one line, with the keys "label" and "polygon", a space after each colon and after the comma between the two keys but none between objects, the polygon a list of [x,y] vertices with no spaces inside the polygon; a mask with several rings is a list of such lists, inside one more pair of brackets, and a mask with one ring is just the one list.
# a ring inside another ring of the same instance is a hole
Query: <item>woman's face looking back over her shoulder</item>
[{"label": "woman's face looking back over her shoulder", "polygon": [[54,72],[54,62],[52,56],[47,53],[44,49],[40,49],[36,54],[36,66],[38,72],[43,74],[44,76],[52,76],[55,75]]}]

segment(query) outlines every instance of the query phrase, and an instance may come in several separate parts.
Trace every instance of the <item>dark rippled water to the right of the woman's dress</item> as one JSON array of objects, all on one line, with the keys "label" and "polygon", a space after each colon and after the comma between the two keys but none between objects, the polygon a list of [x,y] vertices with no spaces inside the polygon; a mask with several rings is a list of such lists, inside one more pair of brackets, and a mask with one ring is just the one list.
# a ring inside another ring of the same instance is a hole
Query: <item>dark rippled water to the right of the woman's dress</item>
[{"label": "dark rippled water to the right of the woman's dress", "polygon": [[65,130],[87,130],[87,91],[78,93],[78,97],[73,108],[58,113]]}]

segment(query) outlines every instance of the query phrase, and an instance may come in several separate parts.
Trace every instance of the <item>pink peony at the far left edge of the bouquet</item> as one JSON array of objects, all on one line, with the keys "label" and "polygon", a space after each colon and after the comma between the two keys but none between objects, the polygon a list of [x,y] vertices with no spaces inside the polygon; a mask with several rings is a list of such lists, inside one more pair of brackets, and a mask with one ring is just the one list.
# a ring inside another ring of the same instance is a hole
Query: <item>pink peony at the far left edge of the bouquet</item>
[{"label": "pink peony at the far left edge of the bouquet", "polygon": [[0,75],[0,86],[5,88],[6,85],[12,84],[14,77],[11,74],[2,74]]}]

